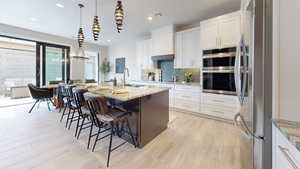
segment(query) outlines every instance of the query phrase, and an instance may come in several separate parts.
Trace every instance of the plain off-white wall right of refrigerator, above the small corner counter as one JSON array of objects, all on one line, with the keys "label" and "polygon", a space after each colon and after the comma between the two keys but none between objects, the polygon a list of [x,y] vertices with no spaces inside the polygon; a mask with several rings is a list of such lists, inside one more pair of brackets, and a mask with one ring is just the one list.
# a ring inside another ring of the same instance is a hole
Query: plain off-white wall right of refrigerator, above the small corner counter
[{"label": "plain off-white wall right of refrigerator, above the small corner counter", "polygon": [[300,122],[300,1],[275,0],[274,5],[275,117]]}]

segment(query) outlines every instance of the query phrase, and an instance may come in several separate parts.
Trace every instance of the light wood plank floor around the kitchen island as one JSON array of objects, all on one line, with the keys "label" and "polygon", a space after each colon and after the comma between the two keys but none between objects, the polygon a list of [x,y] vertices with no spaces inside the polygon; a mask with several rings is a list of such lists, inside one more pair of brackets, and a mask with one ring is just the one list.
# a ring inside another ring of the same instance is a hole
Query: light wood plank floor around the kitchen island
[{"label": "light wood plank floor around the kitchen island", "polygon": [[[74,127],[59,123],[46,106],[0,109],[0,169],[106,168],[108,139],[96,151],[86,149]],[[186,113],[170,112],[169,128],[143,149],[125,144],[112,153],[111,169],[240,169],[238,131],[231,125]],[[115,142],[118,142],[118,138]]]}]

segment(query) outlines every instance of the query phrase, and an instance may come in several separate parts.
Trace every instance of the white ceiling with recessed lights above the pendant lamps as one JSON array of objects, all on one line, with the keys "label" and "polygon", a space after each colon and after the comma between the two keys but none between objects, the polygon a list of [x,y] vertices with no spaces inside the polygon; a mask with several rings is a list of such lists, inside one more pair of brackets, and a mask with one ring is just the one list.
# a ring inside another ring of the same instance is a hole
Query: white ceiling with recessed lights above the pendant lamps
[{"label": "white ceiling with recessed lights above the pendant lamps", "polygon": [[[75,39],[79,27],[79,7],[82,2],[86,41],[109,45],[147,35],[167,24],[188,25],[239,9],[240,0],[123,0],[124,31],[118,34],[114,21],[116,0],[98,0],[101,34],[93,41],[91,25],[95,0],[3,0],[0,23]],[[64,8],[56,7],[61,3]],[[148,21],[147,17],[161,12],[162,17]],[[32,21],[35,18],[35,21]],[[111,40],[111,42],[107,42]]]}]

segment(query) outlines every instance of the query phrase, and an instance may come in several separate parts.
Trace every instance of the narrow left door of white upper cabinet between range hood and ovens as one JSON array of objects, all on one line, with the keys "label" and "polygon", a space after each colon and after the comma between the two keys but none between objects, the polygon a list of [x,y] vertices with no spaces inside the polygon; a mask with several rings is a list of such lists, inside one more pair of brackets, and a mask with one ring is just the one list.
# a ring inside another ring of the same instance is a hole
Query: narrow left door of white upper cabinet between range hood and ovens
[{"label": "narrow left door of white upper cabinet between range hood and ovens", "polygon": [[175,35],[174,67],[182,68],[182,32],[177,32]]}]

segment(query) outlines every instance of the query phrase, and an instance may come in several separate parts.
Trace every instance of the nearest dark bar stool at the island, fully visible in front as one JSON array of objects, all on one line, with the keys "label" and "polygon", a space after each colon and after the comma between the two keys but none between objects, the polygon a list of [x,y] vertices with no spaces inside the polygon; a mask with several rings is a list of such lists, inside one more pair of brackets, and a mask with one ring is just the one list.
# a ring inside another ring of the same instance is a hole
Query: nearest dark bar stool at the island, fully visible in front
[{"label": "nearest dark bar stool at the island, fully visible in front", "polygon": [[[119,109],[115,109],[115,108],[109,108],[107,106],[107,99],[104,96],[100,96],[100,97],[99,96],[98,97],[91,96],[90,94],[87,93],[86,95],[84,95],[84,97],[86,99],[88,108],[90,109],[93,125],[98,128],[98,132],[96,134],[96,139],[95,139],[92,151],[94,152],[96,144],[99,140],[110,136],[108,155],[107,155],[107,163],[106,163],[106,166],[109,167],[111,152],[128,142],[127,140],[125,140],[123,143],[112,148],[113,135],[115,133],[119,132],[119,130],[117,128],[119,123],[122,124],[123,132],[124,132],[124,130],[123,130],[124,123],[126,124],[126,128],[128,129],[128,134],[131,137],[134,147],[136,147],[136,141],[133,137],[131,127],[130,127],[130,124],[128,121],[128,117],[129,117],[130,113],[119,110]],[[109,128],[105,128],[104,126],[108,126]],[[101,130],[103,130],[103,131],[101,131]],[[110,131],[110,133],[99,138],[100,134],[104,133],[105,131]],[[117,134],[120,134],[120,133],[117,133]],[[93,136],[94,135],[90,134],[90,137],[93,137]]]}]

